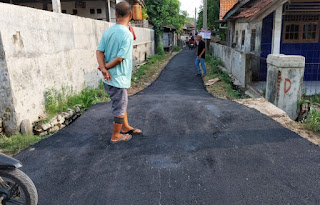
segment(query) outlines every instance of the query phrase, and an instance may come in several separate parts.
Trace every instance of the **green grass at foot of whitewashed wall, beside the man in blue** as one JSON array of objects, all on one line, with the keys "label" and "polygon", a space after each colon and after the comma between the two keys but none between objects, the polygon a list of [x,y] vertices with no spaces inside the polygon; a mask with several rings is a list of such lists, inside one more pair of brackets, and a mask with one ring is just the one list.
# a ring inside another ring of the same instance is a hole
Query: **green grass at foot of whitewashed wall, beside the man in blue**
[{"label": "green grass at foot of whitewashed wall, beside the man in blue", "polygon": [[109,100],[103,83],[98,88],[87,87],[80,93],[75,93],[72,87],[63,87],[61,92],[49,89],[45,93],[45,108],[49,116],[67,111],[75,106],[83,107],[85,110],[92,105]]}]

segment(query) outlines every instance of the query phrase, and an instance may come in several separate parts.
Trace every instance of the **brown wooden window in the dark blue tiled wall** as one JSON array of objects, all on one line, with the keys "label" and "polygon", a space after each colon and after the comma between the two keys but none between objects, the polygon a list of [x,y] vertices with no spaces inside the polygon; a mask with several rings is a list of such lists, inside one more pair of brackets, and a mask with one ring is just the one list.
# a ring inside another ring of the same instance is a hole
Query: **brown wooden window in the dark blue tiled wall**
[{"label": "brown wooden window in the dark blue tiled wall", "polygon": [[317,43],[319,16],[286,15],[283,26],[283,43]]}]

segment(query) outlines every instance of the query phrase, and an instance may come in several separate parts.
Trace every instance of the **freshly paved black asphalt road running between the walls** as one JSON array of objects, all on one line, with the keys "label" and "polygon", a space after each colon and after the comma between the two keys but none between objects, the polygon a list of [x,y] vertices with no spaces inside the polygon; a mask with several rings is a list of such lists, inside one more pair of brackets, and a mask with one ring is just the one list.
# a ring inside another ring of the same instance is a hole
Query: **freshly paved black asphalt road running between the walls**
[{"label": "freshly paved black asphalt road running between the walls", "polygon": [[110,145],[110,103],[16,158],[41,205],[320,204],[320,148],[258,111],[216,99],[177,55],[129,98],[145,136]]}]

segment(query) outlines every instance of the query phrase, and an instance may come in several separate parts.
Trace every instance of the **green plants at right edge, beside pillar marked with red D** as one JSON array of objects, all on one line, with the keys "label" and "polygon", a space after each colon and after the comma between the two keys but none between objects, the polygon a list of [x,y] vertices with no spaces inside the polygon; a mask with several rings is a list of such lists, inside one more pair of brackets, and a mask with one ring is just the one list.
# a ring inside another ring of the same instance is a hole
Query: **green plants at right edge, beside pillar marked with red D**
[{"label": "green plants at right edge, beside pillar marked with red D", "polygon": [[298,103],[298,107],[301,104],[308,104],[310,109],[302,123],[307,129],[320,133],[320,95],[307,96],[304,93]]}]

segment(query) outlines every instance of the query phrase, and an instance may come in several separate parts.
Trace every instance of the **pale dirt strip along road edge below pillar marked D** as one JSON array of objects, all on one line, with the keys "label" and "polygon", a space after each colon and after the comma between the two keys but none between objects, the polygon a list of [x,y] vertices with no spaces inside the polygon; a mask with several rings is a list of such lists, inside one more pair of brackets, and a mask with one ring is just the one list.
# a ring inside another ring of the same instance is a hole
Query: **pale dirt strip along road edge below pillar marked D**
[{"label": "pale dirt strip along road edge below pillar marked D", "polygon": [[309,140],[310,142],[320,146],[320,135],[307,130],[302,124],[291,120],[288,115],[272,103],[266,101],[264,98],[251,98],[251,99],[241,99],[234,100],[237,103],[245,105],[249,108],[254,108],[271,117],[273,120],[279,122],[282,126],[290,129],[291,131],[297,133],[301,137]]}]

